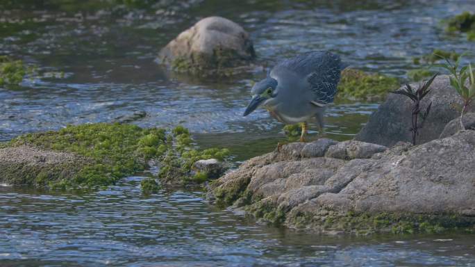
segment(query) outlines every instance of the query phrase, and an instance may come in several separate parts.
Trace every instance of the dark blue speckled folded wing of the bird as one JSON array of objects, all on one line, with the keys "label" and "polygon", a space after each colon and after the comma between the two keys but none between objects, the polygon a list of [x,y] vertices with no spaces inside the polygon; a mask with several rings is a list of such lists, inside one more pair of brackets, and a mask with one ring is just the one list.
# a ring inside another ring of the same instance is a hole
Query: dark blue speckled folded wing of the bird
[{"label": "dark blue speckled folded wing of the bird", "polygon": [[335,98],[344,67],[346,66],[342,64],[340,56],[328,51],[312,51],[283,60],[272,72],[287,70],[307,79],[314,95],[311,102],[316,106],[325,106]]}]

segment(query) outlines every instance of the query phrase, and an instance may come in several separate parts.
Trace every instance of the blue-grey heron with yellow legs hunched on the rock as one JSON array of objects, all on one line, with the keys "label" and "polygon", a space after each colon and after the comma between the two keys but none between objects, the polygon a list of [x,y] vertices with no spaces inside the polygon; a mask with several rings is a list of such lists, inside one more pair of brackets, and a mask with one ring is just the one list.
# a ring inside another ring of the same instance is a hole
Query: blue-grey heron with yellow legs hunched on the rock
[{"label": "blue-grey heron with yellow legs hunched on the rock", "polygon": [[253,99],[244,116],[263,106],[280,122],[303,122],[301,140],[310,120],[317,120],[322,133],[325,106],[333,102],[344,68],[340,56],[329,51],[312,51],[283,60],[253,86]]}]

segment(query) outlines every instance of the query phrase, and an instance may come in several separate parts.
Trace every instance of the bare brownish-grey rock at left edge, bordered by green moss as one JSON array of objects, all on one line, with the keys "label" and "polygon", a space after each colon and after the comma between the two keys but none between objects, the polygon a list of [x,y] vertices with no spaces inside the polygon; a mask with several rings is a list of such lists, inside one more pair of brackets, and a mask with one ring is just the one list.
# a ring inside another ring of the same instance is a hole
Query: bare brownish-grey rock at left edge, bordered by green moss
[{"label": "bare brownish-grey rock at left edge, bordered by green moss", "polygon": [[0,149],[0,182],[10,185],[44,186],[73,177],[88,159],[30,145]]}]

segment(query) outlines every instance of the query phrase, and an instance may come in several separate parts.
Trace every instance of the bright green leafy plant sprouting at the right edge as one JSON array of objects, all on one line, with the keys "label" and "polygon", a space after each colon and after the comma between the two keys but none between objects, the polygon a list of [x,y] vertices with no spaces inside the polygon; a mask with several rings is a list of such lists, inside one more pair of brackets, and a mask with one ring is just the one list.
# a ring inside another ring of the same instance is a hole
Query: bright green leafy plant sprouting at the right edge
[{"label": "bright green leafy plant sprouting at the right edge", "polygon": [[[437,67],[443,67],[452,74],[450,76],[450,84],[458,92],[458,95],[462,97],[462,111],[460,112],[460,128],[465,130],[462,119],[467,107],[472,103],[475,98],[475,79],[474,72],[472,70],[472,64],[460,67],[460,56],[455,63],[452,63],[449,58],[444,58],[447,63],[435,65]],[[468,79],[468,82],[467,82]]]}]

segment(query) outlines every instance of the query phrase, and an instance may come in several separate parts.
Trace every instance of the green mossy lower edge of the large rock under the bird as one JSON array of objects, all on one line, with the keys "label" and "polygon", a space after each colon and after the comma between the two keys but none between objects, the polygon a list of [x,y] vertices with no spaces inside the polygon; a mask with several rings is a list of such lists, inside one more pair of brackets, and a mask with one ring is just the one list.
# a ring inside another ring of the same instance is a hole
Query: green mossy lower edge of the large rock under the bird
[{"label": "green mossy lower edge of the large rock under the bird", "polygon": [[[250,180],[250,179],[249,179]],[[233,206],[246,211],[261,223],[308,229],[322,234],[350,233],[357,235],[390,233],[438,233],[447,230],[475,232],[475,218],[458,214],[368,213],[321,209],[318,213],[288,211],[278,207],[272,198],[253,195],[246,190],[249,180],[235,186],[214,186],[213,195],[219,207]],[[216,182],[215,182],[216,183]]]}]

